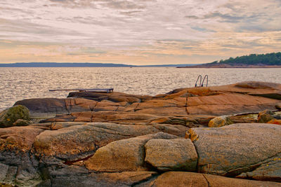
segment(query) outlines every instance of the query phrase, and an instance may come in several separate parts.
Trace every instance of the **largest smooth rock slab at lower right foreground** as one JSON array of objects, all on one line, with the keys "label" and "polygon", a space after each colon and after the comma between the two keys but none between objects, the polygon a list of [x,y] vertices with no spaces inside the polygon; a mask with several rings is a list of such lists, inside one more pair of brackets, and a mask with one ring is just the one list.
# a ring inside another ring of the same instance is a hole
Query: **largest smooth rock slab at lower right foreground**
[{"label": "largest smooth rock slab at lower right foreground", "polygon": [[[273,160],[281,162],[280,125],[233,124],[218,128],[192,128],[189,133],[199,158],[198,172],[237,176],[262,164],[269,166]],[[275,178],[273,176],[273,180]]]}]

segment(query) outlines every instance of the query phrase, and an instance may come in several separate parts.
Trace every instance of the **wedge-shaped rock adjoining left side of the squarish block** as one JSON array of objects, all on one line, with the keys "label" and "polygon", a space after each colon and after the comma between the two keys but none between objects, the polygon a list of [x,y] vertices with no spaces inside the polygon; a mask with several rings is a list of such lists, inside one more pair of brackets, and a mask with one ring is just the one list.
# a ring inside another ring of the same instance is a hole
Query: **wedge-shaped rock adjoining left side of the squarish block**
[{"label": "wedge-shaped rock adjoining left side of the squarish block", "polygon": [[150,139],[175,139],[174,135],[159,132],[131,139],[113,141],[99,148],[86,167],[97,172],[125,172],[148,170],[145,166],[145,143]]}]

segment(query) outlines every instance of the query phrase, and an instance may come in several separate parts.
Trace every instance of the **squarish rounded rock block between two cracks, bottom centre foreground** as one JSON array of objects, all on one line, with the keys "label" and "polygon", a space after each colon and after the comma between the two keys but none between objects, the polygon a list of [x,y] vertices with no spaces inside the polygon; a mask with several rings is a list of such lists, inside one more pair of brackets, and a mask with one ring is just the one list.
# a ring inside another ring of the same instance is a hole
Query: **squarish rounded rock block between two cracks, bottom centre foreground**
[{"label": "squarish rounded rock block between two cracks, bottom centre foreground", "polygon": [[145,144],[145,162],[161,171],[195,171],[197,153],[190,139],[150,139]]}]

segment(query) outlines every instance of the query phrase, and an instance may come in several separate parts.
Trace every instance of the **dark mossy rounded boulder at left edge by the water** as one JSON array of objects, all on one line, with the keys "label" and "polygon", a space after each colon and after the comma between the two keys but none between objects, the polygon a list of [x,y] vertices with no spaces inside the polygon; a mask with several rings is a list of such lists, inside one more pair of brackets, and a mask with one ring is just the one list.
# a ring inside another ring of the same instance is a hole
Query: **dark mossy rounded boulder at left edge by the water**
[{"label": "dark mossy rounded boulder at left edge by the water", "polygon": [[18,119],[30,120],[30,111],[27,107],[18,105],[0,113],[0,127],[12,127]]}]

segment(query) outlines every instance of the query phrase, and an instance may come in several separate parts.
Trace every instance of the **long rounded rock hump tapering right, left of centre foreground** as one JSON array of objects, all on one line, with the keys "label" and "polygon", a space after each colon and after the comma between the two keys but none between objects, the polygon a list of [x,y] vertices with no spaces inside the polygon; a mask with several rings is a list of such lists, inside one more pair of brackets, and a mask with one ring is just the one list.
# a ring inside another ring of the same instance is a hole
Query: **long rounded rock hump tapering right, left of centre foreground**
[{"label": "long rounded rock hump tapering right, left of centre foreground", "polygon": [[148,125],[85,123],[58,130],[45,130],[34,141],[38,155],[55,156],[63,160],[78,160],[93,154],[111,141],[159,132]]}]

